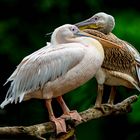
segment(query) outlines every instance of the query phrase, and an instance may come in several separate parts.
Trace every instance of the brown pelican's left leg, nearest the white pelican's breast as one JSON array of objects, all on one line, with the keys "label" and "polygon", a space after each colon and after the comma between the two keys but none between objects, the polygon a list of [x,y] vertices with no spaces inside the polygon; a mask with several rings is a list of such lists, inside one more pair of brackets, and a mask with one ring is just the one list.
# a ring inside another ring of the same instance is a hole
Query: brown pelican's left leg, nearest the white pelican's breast
[{"label": "brown pelican's left leg, nearest the white pelican's breast", "polygon": [[100,109],[102,108],[101,104],[102,104],[103,90],[104,90],[104,86],[98,84],[98,93],[95,102],[95,108],[100,108]]}]

